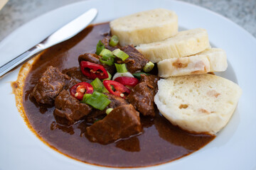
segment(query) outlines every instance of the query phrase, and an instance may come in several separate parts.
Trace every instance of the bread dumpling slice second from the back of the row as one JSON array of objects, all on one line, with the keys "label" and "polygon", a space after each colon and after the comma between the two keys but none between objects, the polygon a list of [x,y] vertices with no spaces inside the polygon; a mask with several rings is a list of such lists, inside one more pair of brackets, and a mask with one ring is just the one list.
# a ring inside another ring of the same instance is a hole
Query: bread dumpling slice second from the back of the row
[{"label": "bread dumpling slice second from the back of the row", "polygon": [[183,30],[166,40],[138,45],[136,48],[151,62],[195,55],[210,47],[208,33],[203,28]]}]

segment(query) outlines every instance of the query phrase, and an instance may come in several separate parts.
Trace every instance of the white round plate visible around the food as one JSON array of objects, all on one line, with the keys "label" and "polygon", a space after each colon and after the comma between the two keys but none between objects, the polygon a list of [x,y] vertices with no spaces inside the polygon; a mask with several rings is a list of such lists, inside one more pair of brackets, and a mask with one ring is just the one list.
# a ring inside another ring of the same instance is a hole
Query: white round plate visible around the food
[{"label": "white round plate visible around the food", "polygon": [[[58,8],[18,28],[0,42],[0,64],[40,42],[56,28],[89,8],[99,15],[94,23],[152,8],[168,8],[178,14],[181,28],[206,28],[210,42],[223,48],[229,67],[223,77],[243,90],[230,123],[210,142],[188,157],[146,169],[255,169],[256,168],[256,40],[223,16],[181,1],[82,1]],[[45,24],[43,24],[45,23]],[[18,69],[0,80],[0,169],[109,169],[75,161],[55,152],[28,130],[15,106],[10,81]],[[122,158],[120,158],[122,159]]]}]

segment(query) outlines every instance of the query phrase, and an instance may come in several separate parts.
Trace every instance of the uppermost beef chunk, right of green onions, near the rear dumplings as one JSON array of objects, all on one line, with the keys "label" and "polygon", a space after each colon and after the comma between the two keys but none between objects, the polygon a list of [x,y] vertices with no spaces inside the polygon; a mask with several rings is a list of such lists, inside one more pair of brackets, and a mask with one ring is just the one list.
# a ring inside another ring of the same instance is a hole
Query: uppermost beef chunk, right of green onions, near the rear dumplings
[{"label": "uppermost beef chunk, right of green onions, near the rear dumplings", "polygon": [[122,51],[127,53],[129,57],[127,60],[117,60],[118,63],[126,63],[127,64],[127,69],[129,72],[134,73],[138,72],[143,69],[143,67],[146,65],[146,63],[149,62],[142,53],[140,53],[134,46],[132,45],[127,45],[121,48]]}]

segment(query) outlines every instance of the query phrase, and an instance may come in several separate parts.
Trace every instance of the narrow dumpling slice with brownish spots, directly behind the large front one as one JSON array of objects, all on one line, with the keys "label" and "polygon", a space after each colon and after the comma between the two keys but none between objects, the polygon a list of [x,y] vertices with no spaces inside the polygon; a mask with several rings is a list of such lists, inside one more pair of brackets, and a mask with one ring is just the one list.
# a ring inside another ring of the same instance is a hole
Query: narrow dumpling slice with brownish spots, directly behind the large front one
[{"label": "narrow dumpling slice with brownish spots, directly behind the large front one", "polygon": [[208,72],[224,72],[228,67],[225,51],[210,48],[196,55],[171,58],[157,63],[159,77],[205,74]]}]

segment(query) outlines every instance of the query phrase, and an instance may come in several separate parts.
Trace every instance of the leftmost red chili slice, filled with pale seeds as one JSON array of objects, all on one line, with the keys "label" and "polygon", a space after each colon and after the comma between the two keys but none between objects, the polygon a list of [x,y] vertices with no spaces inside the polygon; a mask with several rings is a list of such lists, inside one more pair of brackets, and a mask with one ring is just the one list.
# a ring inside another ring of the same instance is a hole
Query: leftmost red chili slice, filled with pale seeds
[{"label": "leftmost red chili slice, filled with pale seeds", "polygon": [[79,84],[75,84],[70,88],[71,96],[78,98],[78,100],[82,100],[82,97],[85,94],[92,94],[92,93],[93,93],[93,87],[87,82],[81,82]]}]

